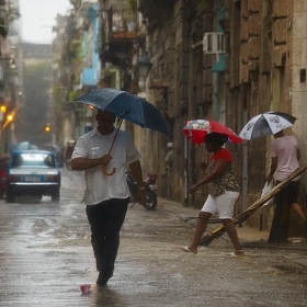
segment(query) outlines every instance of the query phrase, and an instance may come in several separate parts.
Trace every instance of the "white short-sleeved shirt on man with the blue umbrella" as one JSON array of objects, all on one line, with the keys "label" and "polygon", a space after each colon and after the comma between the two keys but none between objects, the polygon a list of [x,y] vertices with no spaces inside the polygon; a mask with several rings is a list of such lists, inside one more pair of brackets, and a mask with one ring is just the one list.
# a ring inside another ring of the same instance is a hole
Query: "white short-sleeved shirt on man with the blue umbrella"
[{"label": "white short-sleeved shirt on man with the blue umbrella", "polygon": [[[107,155],[115,133],[114,128],[110,135],[102,135],[95,128],[82,135],[77,141],[71,159],[100,158]],[[125,169],[140,158],[130,135],[120,130],[110,155],[112,160],[107,166],[107,171],[111,172],[115,168],[113,175],[105,175],[102,166],[84,171],[87,189],[83,202],[86,205],[96,205],[111,198],[127,198],[130,195]]]}]

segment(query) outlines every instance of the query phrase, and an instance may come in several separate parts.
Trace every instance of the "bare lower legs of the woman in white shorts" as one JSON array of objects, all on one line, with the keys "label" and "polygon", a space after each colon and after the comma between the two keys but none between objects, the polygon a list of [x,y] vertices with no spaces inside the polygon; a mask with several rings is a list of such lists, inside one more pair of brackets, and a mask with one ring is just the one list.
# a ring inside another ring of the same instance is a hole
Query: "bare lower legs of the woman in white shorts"
[{"label": "bare lower legs of the woman in white shorts", "polygon": [[[197,253],[197,247],[200,245],[202,236],[204,235],[204,232],[207,228],[208,219],[211,218],[211,216],[212,216],[212,214],[208,212],[200,212],[193,241],[189,247],[189,250],[191,252]],[[235,253],[237,255],[243,254],[243,251],[241,250],[241,245],[239,242],[236,226],[232,224],[231,219],[221,219],[221,223],[226,229],[226,232],[228,234],[228,237],[230,238],[230,240],[235,247],[235,250],[236,250]]]}]

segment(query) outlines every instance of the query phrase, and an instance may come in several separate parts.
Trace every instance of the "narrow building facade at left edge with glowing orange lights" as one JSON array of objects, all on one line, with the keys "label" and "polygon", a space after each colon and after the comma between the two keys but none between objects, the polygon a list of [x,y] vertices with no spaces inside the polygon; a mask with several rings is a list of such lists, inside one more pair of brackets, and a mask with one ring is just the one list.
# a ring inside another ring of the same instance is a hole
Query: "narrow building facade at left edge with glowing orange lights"
[{"label": "narrow building facade at left edge with glowing orange lights", "polygon": [[22,55],[19,1],[0,1],[0,157],[15,141],[22,104]]}]

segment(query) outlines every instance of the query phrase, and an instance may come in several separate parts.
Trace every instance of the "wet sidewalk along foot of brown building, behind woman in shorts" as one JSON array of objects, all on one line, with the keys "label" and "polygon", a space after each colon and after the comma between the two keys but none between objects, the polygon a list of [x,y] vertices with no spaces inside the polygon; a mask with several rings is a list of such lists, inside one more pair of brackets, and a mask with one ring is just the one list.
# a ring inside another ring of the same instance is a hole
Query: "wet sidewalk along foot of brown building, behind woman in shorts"
[{"label": "wet sidewalk along foot of brown building, behind woman in shorts", "polygon": [[[158,201],[158,211],[163,212],[167,215],[178,217],[182,223],[191,223],[192,225],[196,224],[198,208],[185,207],[180,203],[172,202],[166,198],[159,198]],[[213,220],[208,225],[208,229],[215,229],[220,226],[218,220]],[[250,227],[247,223],[242,224],[242,227],[237,227],[238,236],[243,247],[247,248],[265,248],[265,249],[291,249],[291,250],[302,250],[307,251],[307,243],[305,238],[288,238],[287,245],[272,245],[268,243],[269,231],[260,231],[255,227]],[[227,235],[224,235],[221,238],[229,240]],[[306,260],[307,265],[307,260]]]}]

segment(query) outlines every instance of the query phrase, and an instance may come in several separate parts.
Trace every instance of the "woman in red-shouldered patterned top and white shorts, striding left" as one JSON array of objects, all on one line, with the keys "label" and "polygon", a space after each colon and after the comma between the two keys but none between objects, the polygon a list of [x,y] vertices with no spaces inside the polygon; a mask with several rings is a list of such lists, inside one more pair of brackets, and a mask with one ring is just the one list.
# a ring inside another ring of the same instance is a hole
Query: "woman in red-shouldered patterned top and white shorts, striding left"
[{"label": "woman in red-shouldered patterned top and white shorts, striding left", "polygon": [[204,140],[207,151],[213,152],[213,156],[204,178],[190,187],[190,193],[195,193],[200,186],[207,184],[208,196],[198,214],[192,243],[182,249],[196,254],[202,236],[207,228],[208,219],[213,214],[218,213],[219,219],[235,247],[234,254],[245,255],[236,226],[231,221],[235,203],[239,197],[240,186],[235,179],[231,154],[226,148],[223,148],[227,136],[218,133],[209,133],[205,136]]}]

